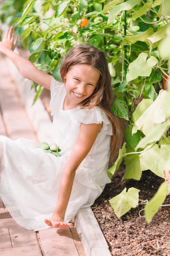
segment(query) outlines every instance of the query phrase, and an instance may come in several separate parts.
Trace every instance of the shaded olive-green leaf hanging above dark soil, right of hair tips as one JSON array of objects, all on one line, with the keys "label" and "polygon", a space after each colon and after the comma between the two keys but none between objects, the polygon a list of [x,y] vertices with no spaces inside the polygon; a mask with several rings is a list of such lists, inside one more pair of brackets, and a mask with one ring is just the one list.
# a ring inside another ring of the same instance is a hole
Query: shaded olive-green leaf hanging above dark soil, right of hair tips
[{"label": "shaded olive-green leaf hanging above dark soil, right of hair tips", "polygon": [[125,157],[126,169],[124,179],[140,180],[142,171],[140,168],[140,160],[138,154],[126,155]]}]

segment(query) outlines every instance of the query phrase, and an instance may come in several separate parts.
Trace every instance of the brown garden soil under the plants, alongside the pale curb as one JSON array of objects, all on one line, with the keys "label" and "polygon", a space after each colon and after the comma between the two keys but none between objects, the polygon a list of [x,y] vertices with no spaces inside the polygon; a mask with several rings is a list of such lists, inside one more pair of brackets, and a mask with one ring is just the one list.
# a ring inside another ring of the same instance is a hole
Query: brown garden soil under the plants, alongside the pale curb
[{"label": "brown garden soil under the plants, alongside the pale curb", "polygon": [[[46,110],[50,113],[50,92],[43,90],[41,96]],[[151,159],[152,161],[152,159]],[[140,181],[123,180],[124,166],[113,176],[102,195],[92,205],[93,213],[106,238],[113,256],[150,256],[170,254],[170,207],[161,207],[150,224],[144,217],[145,202],[139,201],[138,207],[117,218],[108,200],[119,194],[125,187],[140,190],[140,200],[150,200],[155,195],[163,179],[151,171],[144,171]],[[170,204],[167,196],[164,204]]]}]

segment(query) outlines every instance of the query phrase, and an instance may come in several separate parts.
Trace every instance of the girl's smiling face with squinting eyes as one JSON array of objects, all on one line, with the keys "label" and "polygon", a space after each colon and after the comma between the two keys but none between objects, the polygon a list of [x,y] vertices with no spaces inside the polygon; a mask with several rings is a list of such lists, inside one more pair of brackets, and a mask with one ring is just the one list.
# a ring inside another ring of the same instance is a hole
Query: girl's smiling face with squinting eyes
[{"label": "girl's smiling face with squinting eyes", "polygon": [[73,65],[64,75],[66,98],[64,110],[77,107],[93,94],[100,78],[99,71],[86,64]]}]

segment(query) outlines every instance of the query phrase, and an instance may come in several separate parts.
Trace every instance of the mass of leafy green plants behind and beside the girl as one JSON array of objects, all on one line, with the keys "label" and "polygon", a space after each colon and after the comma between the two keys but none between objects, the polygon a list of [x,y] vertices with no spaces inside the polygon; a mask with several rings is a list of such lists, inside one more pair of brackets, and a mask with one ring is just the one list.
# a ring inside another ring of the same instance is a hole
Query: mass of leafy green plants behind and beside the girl
[{"label": "mass of leafy green plants behind and beside the girl", "polygon": [[[84,27],[83,18],[88,19]],[[102,49],[116,96],[112,110],[129,124],[126,143],[108,174],[114,175],[123,160],[125,179],[140,180],[147,169],[163,178],[162,171],[170,170],[170,95],[161,90],[168,88],[170,78],[169,0],[5,0],[0,20],[15,27],[22,47],[29,48],[30,61],[57,80],[60,62],[71,47],[92,44]],[[33,87],[36,101],[43,88]],[[155,198],[165,198],[168,189],[161,186]],[[125,188],[110,203],[121,217],[138,200],[139,190]],[[153,202],[146,207],[148,222],[162,203]]]}]

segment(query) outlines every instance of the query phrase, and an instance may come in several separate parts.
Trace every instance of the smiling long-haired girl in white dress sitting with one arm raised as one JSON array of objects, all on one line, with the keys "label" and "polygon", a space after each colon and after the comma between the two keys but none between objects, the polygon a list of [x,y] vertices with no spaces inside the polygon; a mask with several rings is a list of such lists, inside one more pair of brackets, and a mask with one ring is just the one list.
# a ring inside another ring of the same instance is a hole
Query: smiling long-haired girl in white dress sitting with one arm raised
[{"label": "smiling long-haired girl in white dress sitting with one arm raised", "polygon": [[15,54],[16,41],[11,27],[0,51],[22,76],[51,90],[51,137],[62,151],[55,157],[34,141],[0,136],[0,197],[26,229],[66,228],[110,182],[107,170],[121,147],[124,120],[111,111],[113,90],[104,52],[75,46],[61,64],[63,82],[58,82]]}]

